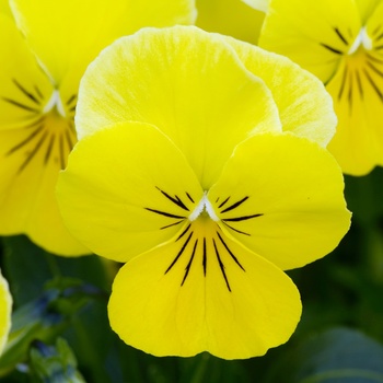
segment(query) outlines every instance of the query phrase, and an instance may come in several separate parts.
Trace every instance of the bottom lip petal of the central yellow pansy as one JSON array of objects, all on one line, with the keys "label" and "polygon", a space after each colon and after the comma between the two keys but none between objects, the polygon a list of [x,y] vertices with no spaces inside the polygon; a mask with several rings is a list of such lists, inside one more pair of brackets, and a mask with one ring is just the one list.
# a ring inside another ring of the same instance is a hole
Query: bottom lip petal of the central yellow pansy
[{"label": "bottom lip petal of the central yellow pansy", "polygon": [[118,272],[108,313],[128,344],[155,356],[264,355],[291,336],[299,292],[278,268],[233,242],[210,219]]}]

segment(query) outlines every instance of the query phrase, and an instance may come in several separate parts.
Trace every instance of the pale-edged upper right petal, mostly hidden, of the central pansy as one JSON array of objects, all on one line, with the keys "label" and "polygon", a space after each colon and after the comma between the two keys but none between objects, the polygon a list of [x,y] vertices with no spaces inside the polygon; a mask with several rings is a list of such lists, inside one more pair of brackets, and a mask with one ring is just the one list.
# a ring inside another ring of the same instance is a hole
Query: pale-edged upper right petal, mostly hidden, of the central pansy
[{"label": "pale-edged upper right petal, mostly hidden, of the central pansy", "polygon": [[326,147],[335,134],[337,118],[323,83],[283,56],[234,38],[227,40],[245,67],[271,91],[283,131]]}]

